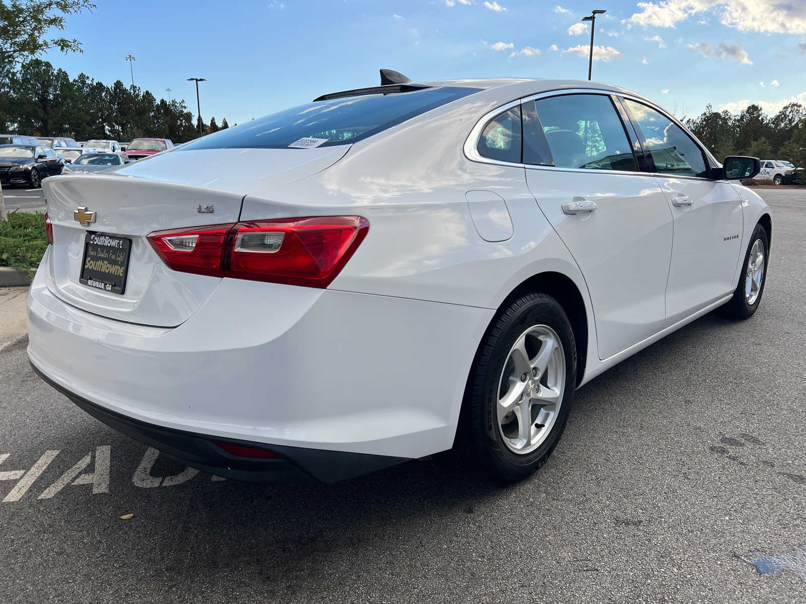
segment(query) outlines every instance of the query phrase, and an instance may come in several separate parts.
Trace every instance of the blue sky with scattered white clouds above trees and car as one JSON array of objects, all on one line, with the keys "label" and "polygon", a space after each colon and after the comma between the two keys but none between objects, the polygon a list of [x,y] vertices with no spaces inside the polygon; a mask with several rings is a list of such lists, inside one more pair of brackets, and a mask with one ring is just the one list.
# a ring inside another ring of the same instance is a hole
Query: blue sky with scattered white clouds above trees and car
[{"label": "blue sky with scattered white clouds above trees and car", "polygon": [[[377,85],[378,69],[413,81],[460,77],[588,75],[593,8],[593,79],[658,101],[678,116],[710,102],[770,111],[806,104],[806,0],[334,0],[206,2],[96,0],[69,18],[64,35],[82,54],[45,56],[70,77],[131,83],[157,97],[184,98],[204,77],[202,118],[232,125],[322,93]],[[799,46],[800,45],[800,46]],[[580,48],[582,47],[582,48]]]}]

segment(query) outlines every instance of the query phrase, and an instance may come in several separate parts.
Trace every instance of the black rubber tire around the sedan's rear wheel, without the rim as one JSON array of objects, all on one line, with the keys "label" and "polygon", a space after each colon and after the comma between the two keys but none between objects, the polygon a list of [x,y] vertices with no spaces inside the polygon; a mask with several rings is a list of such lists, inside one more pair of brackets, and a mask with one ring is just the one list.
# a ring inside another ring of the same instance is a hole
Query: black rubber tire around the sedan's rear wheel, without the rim
[{"label": "black rubber tire around the sedan's rear wheel, without the rim", "polygon": [[[509,353],[521,334],[534,325],[546,325],[559,337],[566,375],[559,410],[550,432],[537,449],[519,454],[510,450],[503,441],[496,405],[501,374]],[[499,484],[527,478],[546,462],[558,444],[571,412],[575,387],[576,345],[563,307],[543,293],[513,292],[493,317],[476,351],[456,429],[452,450],[455,461]]]}]

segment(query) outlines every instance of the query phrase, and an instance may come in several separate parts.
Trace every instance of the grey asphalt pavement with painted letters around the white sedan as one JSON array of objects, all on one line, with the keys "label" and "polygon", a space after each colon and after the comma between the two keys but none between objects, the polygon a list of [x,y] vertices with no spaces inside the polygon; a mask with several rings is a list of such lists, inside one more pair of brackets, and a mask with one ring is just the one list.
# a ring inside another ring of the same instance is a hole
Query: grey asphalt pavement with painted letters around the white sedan
[{"label": "grey asphalt pavement with painted letters around the white sedan", "polygon": [[756,315],[704,316],[580,389],[554,456],[508,488],[439,456],[331,486],[215,479],[6,348],[0,601],[806,601],[806,190],[759,192]]}]

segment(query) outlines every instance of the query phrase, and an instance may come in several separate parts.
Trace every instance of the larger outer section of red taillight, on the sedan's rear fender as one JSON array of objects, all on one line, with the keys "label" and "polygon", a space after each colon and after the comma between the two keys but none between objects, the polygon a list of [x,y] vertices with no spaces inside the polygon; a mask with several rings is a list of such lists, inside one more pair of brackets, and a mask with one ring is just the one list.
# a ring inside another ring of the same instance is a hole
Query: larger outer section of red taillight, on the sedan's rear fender
[{"label": "larger outer section of red taillight, on the sedan's rear fender", "polygon": [[230,234],[225,275],[326,288],[368,229],[359,216],[241,222]]}]

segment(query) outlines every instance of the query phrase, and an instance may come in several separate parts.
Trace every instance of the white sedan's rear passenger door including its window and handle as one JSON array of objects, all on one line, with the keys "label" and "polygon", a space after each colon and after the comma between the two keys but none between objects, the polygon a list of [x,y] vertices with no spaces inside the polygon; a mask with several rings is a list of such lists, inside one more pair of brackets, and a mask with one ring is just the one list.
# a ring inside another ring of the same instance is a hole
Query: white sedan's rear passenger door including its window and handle
[{"label": "white sedan's rear passenger door including its window and handle", "polygon": [[[523,114],[524,162],[534,164],[527,183],[580,266],[599,356],[611,357],[665,324],[672,241],[666,197],[638,171],[632,137],[608,94],[542,96],[525,101]],[[550,153],[541,151],[546,146]],[[580,207],[587,209],[573,213]]]}]

